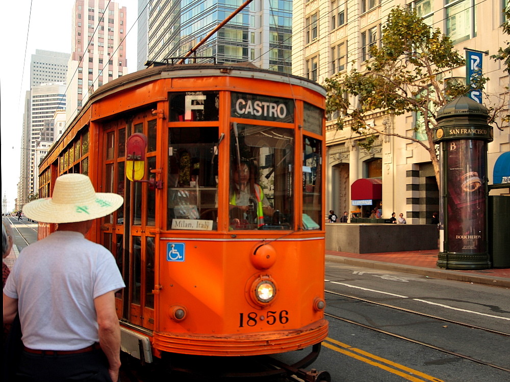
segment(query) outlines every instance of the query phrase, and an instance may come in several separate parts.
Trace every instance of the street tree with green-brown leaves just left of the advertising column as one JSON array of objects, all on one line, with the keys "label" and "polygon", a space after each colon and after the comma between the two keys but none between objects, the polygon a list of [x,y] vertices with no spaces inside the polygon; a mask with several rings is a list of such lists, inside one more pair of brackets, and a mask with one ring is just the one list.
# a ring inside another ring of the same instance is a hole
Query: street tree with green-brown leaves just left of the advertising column
[{"label": "street tree with green-brown leaves just left of the advertising column", "polygon": [[[445,73],[465,65],[449,37],[439,29],[431,30],[414,10],[395,7],[382,28],[381,47],[369,50],[366,70],[356,69],[326,78],[327,113],[338,113],[338,129],[345,126],[366,140],[360,145],[370,148],[377,135],[393,135],[421,145],[430,154],[439,182],[439,158],[432,130],[436,113],[468,87],[461,82],[445,81]],[[451,77],[451,76],[450,76]],[[488,78],[478,73],[471,86],[483,89]],[[502,107],[502,106],[501,106]],[[492,110],[492,111],[495,111]],[[370,124],[374,113],[402,115],[414,112],[420,118],[414,128],[416,137],[408,137]],[[425,138],[422,139],[422,138]]]}]

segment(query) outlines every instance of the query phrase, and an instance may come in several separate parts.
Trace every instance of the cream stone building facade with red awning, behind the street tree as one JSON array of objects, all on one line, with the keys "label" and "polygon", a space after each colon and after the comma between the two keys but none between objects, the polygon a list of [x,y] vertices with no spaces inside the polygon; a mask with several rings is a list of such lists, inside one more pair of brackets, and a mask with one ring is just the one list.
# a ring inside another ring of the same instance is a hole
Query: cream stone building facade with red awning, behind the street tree
[{"label": "cream stone building facade with red awning, behind the street tree", "polygon": [[[322,84],[339,72],[362,72],[369,48],[380,46],[381,28],[397,5],[414,7],[427,24],[448,35],[461,54],[465,47],[495,54],[507,39],[500,28],[507,0],[476,5],[474,0],[294,0],[293,74]],[[478,20],[484,20],[483,28]],[[484,56],[483,74],[490,78],[486,92],[505,104],[502,115],[507,114],[508,73],[501,62]],[[466,67],[454,68],[449,75],[465,78]],[[381,112],[375,113],[370,123],[421,140],[415,129],[417,118],[413,113],[395,116]],[[501,119],[497,122],[500,128],[494,127],[494,141],[488,146],[489,184],[496,160],[510,150],[510,127]],[[396,212],[397,216],[403,213],[408,224],[430,223],[432,213],[439,211],[439,189],[428,151],[418,143],[387,135],[377,137],[372,149],[365,150],[359,145],[362,140],[349,128],[337,130],[333,120],[328,121],[327,209],[366,217],[382,207],[382,217]],[[364,186],[356,187],[360,180]],[[352,195],[359,190],[369,193]],[[492,190],[491,195],[502,192],[505,189]],[[356,200],[365,205],[353,204]]]}]

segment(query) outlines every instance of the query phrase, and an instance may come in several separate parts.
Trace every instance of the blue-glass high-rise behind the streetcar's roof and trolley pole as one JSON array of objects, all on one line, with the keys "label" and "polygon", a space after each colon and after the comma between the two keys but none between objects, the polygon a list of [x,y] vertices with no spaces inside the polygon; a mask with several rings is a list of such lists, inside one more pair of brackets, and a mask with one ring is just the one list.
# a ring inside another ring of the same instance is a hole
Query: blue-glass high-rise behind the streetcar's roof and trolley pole
[{"label": "blue-glass high-rise behind the streetcar's roof and trolley pole", "polygon": [[[234,12],[231,0],[155,0],[150,3],[148,60],[182,57]],[[251,62],[290,73],[292,0],[252,2],[196,52],[217,63]],[[209,60],[211,61],[211,60]]]}]

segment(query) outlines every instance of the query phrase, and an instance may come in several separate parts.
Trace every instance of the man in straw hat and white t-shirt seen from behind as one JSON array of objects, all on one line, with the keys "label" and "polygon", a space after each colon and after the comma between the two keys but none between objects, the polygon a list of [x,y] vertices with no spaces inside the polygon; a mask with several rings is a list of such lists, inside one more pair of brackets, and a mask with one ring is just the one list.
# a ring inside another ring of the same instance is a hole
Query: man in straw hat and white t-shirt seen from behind
[{"label": "man in straw hat and white t-shirt seen from behind", "polygon": [[96,193],[88,176],[57,178],[52,198],[26,204],[37,222],[57,231],[19,254],[4,287],[4,322],[21,321],[21,380],[113,381],[120,368],[114,293],[125,287],[110,251],[85,238],[95,219],[123,203]]}]

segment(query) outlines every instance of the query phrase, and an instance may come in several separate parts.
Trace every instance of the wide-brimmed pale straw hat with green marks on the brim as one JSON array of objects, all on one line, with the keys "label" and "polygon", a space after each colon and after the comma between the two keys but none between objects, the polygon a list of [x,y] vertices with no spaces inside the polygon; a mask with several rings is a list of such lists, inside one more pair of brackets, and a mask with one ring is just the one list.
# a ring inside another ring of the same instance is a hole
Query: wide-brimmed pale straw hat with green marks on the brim
[{"label": "wide-brimmed pale straw hat with green marks on the brim", "polygon": [[25,204],[23,213],[42,223],[84,222],[112,213],[123,202],[118,194],[96,193],[86,175],[65,174],[55,181],[52,198]]}]

